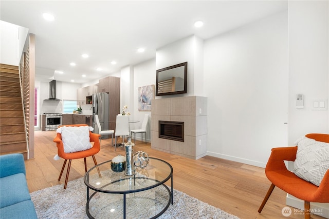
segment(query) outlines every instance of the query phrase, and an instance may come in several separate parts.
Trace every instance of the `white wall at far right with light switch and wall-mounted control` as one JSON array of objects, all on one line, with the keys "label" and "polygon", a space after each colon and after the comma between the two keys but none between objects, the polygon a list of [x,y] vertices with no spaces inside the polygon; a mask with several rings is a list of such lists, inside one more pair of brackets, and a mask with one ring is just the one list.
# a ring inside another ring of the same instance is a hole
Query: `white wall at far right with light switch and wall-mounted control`
[{"label": "white wall at far right with light switch and wall-mounted control", "polygon": [[[329,2],[289,1],[289,145],[307,133],[329,133],[328,110],[312,110],[314,99],[328,99]],[[304,109],[296,95],[304,94]],[[293,169],[293,164],[289,168]],[[304,208],[287,195],[287,205]],[[329,218],[328,204],[311,203]]]}]

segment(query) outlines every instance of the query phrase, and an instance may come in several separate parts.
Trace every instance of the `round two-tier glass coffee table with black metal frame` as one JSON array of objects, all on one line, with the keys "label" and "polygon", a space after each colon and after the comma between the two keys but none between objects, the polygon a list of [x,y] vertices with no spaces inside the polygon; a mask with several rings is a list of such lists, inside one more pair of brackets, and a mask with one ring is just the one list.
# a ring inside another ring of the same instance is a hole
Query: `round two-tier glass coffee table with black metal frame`
[{"label": "round two-tier glass coffee table with black metal frame", "polygon": [[[126,176],[103,162],[84,175],[89,218],[157,218],[173,204],[173,168],[166,161],[149,158],[145,168]],[[100,174],[99,174],[100,171]],[[101,175],[101,177],[100,177]],[[171,178],[171,189],[165,183]],[[93,193],[89,196],[89,189]]]}]

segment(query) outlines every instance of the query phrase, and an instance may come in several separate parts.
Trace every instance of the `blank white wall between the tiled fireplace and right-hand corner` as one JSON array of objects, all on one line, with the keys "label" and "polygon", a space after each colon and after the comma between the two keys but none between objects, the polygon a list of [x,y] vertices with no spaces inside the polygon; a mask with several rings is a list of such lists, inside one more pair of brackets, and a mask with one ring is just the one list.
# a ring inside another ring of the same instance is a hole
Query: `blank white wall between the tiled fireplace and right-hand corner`
[{"label": "blank white wall between the tiled fireplace and right-hand corner", "polygon": [[204,42],[208,155],[265,167],[287,146],[287,12]]}]

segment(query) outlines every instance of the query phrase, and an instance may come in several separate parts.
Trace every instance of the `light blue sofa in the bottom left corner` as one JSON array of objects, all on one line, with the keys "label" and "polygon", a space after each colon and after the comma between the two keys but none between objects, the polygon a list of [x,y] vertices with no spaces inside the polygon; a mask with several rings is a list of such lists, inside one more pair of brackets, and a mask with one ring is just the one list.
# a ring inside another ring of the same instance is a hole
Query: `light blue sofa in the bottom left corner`
[{"label": "light blue sofa in the bottom left corner", "polygon": [[38,218],[26,183],[23,154],[0,156],[0,218]]}]

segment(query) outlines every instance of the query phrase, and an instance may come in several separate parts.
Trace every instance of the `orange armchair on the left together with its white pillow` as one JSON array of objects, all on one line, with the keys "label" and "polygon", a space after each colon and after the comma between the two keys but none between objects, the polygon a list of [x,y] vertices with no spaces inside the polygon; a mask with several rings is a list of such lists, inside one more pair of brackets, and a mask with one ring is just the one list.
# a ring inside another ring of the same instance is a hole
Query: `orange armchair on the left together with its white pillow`
[{"label": "orange armchair on the left together with its white pillow", "polygon": [[[62,157],[65,160],[61,173],[60,173],[60,176],[58,178],[58,181],[61,180],[66,162],[68,160],[64,189],[66,189],[66,186],[67,186],[68,174],[70,172],[72,160],[83,158],[85,172],[87,172],[87,164],[86,164],[87,156],[92,156],[95,166],[97,165],[95,154],[97,154],[100,151],[100,143],[99,143],[100,134],[92,133],[89,129],[87,129],[87,130],[80,129],[75,132],[59,131],[59,129],[61,129],[62,127],[67,127],[68,129],[70,129],[70,128],[74,128],[74,127],[78,128],[78,127],[85,127],[85,126],[86,126],[86,128],[88,128],[88,125],[86,125],[86,124],[59,126],[59,128],[57,130],[57,135],[53,140],[53,142],[55,142],[56,146],[57,146],[58,156]],[[94,145],[90,144],[92,142],[94,142]],[[75,150],[75,151],[72,150],[72,148],[81,147],[81,144],[84,147],[86,145],[86,143],[89,143],[89,145],[90,145],[89,149],[84,148],[81,150]],[[74,146],[72,146],[72,145],[74,145]],[[68,148],[70,148],[70,151],[68,151]],[[98,171],[99,176],[101,177],[101,173],[99,172],[98,168],[97,168],[97,171]]]}]

